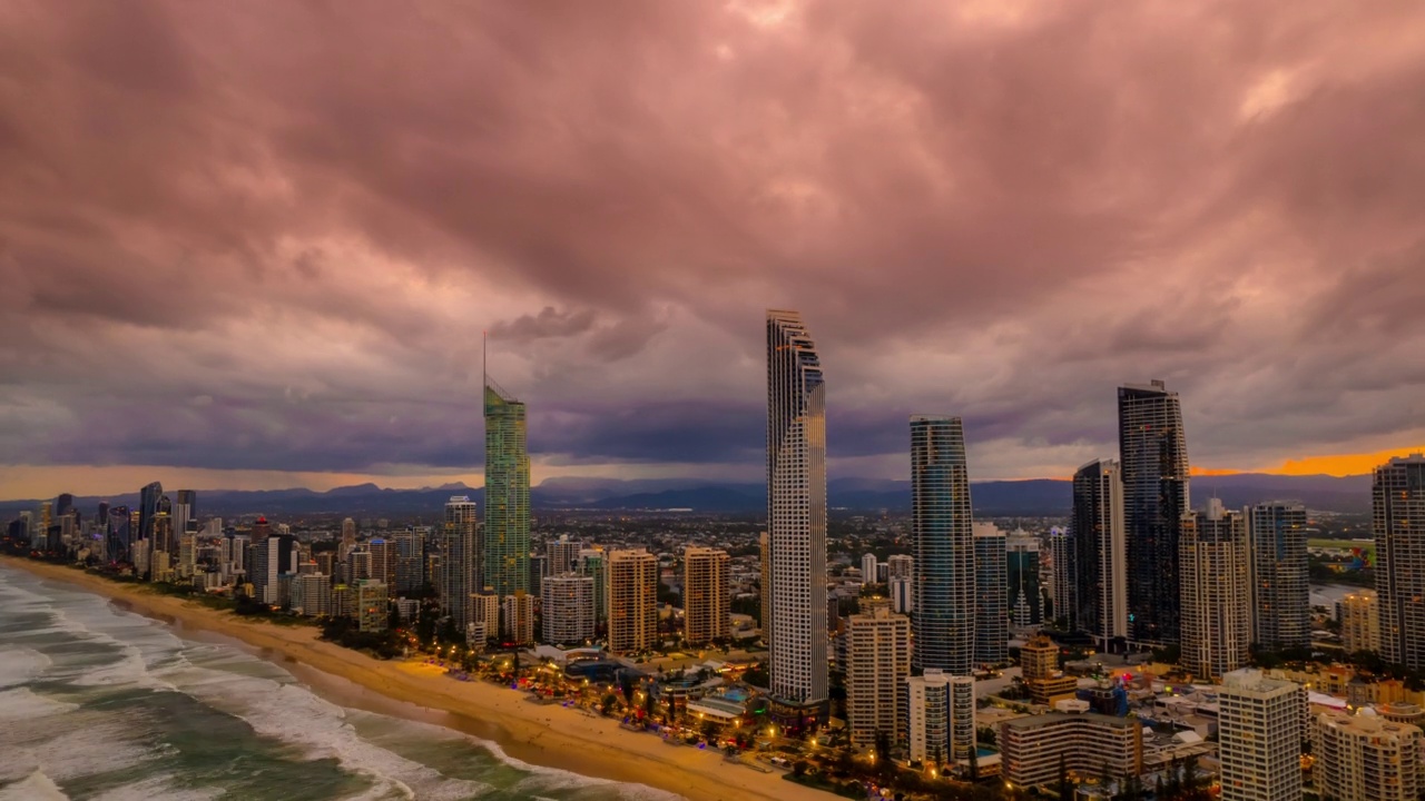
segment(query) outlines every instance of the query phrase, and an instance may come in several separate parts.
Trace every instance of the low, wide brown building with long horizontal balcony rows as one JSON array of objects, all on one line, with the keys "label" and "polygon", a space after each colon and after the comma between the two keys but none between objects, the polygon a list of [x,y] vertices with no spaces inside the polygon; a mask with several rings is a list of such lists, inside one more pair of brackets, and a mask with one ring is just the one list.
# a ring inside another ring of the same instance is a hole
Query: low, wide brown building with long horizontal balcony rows
[{"label": "low, wide brown building with long horizontal balcony rows", "polygon": [[1047,713],[999,724],[1000,770],[1015,788],[1059,780],[1059,770],[1112,777],[1143,772],[1143,723],[1097,713]]}]

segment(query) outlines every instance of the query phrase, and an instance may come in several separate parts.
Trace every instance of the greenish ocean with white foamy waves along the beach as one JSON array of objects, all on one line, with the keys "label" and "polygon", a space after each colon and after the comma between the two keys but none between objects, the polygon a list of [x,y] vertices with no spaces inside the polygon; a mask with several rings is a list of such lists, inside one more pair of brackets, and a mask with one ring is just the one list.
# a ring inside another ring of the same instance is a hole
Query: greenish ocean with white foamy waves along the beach
[{"label": "greenish ocean with white foamy waves along the beach", "polygon": [[238,647],[0,567],[0,801],[671,801],[326,701]]}]

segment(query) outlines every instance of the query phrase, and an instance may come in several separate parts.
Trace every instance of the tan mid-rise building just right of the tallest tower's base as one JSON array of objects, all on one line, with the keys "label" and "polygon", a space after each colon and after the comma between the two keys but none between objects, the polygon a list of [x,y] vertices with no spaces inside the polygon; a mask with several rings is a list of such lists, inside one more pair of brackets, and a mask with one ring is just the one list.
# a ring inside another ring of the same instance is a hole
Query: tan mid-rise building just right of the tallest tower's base
[{"label": "tan mid-rise building just right of the tallest tower's base", "polygon": [[903,684],[911,676],[911,620],[886,607],[852,614],[846,640],[851,744],[866,748],[875,745],[876,735],[893,743],[901,730]]}]

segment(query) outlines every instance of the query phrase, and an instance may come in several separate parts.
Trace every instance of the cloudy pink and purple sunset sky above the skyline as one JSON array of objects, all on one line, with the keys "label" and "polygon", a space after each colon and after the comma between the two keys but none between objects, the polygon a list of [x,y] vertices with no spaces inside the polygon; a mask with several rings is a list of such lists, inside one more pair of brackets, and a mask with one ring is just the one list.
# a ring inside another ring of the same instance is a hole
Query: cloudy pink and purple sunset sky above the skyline
[{"label": "cloudy pink and purple sunset sky above the skyline", "polygon": [[0,3],[0,497],[1425,450],[1418,0]]}]

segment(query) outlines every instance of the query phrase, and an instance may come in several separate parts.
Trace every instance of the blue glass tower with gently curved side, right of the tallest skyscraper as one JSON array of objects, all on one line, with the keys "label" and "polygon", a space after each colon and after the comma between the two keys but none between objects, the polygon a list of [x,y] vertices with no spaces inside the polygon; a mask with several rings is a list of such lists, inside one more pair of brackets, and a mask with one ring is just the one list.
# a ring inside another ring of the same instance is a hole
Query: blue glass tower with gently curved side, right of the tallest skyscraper
[{"label": "blue glass tower with gently curved side, right of the tallest skyscraper", "polygon": [[911,418],[911,515],[915,670],[968,676],[975,664],[975,534],[959,418]]}]

